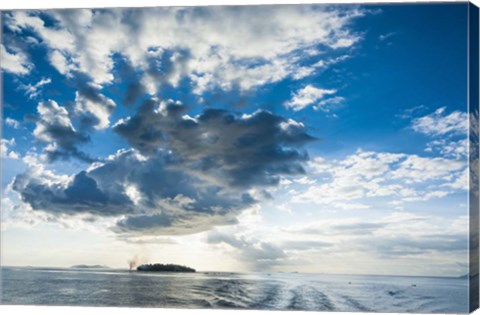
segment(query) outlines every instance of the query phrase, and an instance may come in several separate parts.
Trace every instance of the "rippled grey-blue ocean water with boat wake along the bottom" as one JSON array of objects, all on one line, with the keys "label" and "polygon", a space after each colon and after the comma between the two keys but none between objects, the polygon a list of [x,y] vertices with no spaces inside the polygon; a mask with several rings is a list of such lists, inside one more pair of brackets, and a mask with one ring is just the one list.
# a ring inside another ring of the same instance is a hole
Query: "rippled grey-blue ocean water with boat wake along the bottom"
[{"label": "rippled grey-blue ocean water with boat wake along the bottom", "polygon": [[1,268],[1,304],[467,313],[456,278]]}]

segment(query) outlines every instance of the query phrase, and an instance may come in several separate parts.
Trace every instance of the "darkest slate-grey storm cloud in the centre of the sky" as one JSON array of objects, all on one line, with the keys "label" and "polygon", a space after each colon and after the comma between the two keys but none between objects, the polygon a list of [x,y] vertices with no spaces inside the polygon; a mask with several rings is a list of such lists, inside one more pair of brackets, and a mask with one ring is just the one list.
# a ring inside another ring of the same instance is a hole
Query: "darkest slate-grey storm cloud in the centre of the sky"
[{"label": "darkest slate-grey storm cloud in the centre of the sky", "polygon": [[172,150],[192,172],[230,187],[276,185],[279,175],[303,174],[301,146],[312,141],[303,125],[267,111],[238,117],[207,109],[195,118],[173,101],[145,102],[114,131],[147,156]]}]

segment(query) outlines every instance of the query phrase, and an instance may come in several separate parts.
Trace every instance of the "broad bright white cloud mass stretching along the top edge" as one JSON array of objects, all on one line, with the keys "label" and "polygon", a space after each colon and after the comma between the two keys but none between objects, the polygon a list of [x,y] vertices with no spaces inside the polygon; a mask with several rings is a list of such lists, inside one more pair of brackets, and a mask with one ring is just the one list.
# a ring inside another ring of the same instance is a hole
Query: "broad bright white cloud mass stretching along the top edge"
[{"label": "broad bright white cloud mass stretching along the top edge", "polygon": [[38,36],[64,75],[80,71],[95,84],[110,84],[120,54],[143,74],[150,93],[187,78],[200,94],[308,76],[298,61],[302,52],[352,47],[360,35],[350,23],[365,13],[324,5],[77,9],[44,12],[50,25],[37,12],[15,11],[6,14],[6,25]]}]

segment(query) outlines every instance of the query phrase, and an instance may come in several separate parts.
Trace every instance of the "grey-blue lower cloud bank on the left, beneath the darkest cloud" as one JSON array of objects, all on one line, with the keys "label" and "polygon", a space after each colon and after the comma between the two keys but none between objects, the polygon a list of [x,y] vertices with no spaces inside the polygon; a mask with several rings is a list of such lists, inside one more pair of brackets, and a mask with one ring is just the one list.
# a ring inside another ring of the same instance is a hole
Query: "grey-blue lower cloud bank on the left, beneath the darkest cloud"
[{"label": "grey-blue lower cloud bank on the left, beneath the darkest cloud", "polygon": [[255,202],[248,193],[226,192],[190,176],[171,154],[145,159],[132,150],[76,174],[68,184],[26,172],[12,188],[34,210],[125,215],[114,230],[139,234],[192,234],[235,224],[236,215]]}]

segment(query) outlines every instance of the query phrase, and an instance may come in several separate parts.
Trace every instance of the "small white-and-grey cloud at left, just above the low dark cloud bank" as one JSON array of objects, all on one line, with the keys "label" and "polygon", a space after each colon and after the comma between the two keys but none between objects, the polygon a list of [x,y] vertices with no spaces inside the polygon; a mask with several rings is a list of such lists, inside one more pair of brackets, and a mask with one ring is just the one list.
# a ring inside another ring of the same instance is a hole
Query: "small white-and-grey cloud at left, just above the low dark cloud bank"
[{"label": "small white-and-grey cloud at left, just above the low dark cloud bank", "polygon": [[77,145],[89,141],[89,137],[74,128],[64,107],[59,106],[53,100],[48,100],[38,103],[37,111],[39,116],[35,123],[33,136],[48,143],[45,153],[50,161],[70,156],[87,162],[92,161],[90,157],[77,149]]}]

